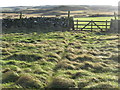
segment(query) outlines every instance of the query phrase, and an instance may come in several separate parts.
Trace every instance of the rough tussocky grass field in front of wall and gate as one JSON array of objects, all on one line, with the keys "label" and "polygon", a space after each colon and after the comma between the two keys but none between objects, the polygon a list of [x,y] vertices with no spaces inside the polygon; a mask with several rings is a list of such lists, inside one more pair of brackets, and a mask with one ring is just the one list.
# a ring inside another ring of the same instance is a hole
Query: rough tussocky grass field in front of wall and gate
[{"label": "rough tussocky grass field in front of wall and gate", "polygon": [[3,88],[118,89],[118,34],[2,35]]}]

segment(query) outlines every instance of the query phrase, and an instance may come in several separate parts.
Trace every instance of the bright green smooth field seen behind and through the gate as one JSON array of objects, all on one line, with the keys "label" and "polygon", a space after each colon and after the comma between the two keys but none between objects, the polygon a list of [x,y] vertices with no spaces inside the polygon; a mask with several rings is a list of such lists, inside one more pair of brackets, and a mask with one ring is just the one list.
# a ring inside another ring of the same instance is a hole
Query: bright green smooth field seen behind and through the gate
[{"label": "bright green smooth field seen behind and through the gate", "polygon": [[[74,20],[81,20],[81,21],[111,21],[114,17],[81,17],[81,18],[74,18]],[[76,24],[75,22],[74,24]],[[88,22],[79,22],[78,24],[87,24]],[[106,22],[96,22],[97,25],[106,25]],[[110,25],[110,23],[108,23]],[[76,26],[75,26],[76,27]],[[84,25],[79,25],[78,28],[83,28]],[[101,28],[106,28],[105,26],[100,26]],[[91,28],[91,26],[87,26],[86,28]],[[97,26],[93,26],[93,28],[97,28]],[[108,26],[110,28],[110,26]]]}]

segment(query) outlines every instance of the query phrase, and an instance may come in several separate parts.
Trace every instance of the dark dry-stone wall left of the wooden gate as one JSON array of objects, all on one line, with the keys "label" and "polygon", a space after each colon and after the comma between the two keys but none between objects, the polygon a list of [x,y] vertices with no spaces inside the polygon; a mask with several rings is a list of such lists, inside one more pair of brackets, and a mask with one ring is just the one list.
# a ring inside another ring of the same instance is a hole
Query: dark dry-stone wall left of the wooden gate
[{"label": "dark dry-stone wall left of the wooden gate", "polygon": [[[71,18],[73,23],[73,19]],[[10,29],[10,28],[26,28],[26,29],[35,29],[35,28],[68,28],[68,18],[65,17],[37,17],[37,18],[24,18],[24,19],[3,19],[2,20],[2,28]]]}]

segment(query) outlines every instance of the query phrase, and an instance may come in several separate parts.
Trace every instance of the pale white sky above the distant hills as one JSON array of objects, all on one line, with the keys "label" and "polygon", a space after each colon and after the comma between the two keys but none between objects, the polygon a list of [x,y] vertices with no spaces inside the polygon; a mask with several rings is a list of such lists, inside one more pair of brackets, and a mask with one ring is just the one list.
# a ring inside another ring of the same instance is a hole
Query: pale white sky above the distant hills
[{"label": "pale white sky above the distant hills", "polygon": [[113,5],[119,0],[0,0],[0,7],[40,5]]}]

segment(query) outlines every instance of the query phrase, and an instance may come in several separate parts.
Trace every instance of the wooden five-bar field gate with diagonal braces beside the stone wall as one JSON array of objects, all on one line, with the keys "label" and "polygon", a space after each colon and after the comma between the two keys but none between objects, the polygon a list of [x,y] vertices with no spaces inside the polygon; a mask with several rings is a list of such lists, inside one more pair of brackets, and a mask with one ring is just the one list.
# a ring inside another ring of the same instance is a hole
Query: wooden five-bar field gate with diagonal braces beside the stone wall
[{"label": "wooden five-bar field gate with diagonal braces beside the stone wall", "polygon": [[[111,21],[82,21],[82,20],[74,20],[74,30],[95,30],[99,29],[100,31],[107,31],[110,28]],[[87,24],[84,24],[87,23]],[[98,24],[100,23],[100,24]],[[80,28],[82,26],[82,28]],[[87,27],[89,26],[89,27]],[[104,27],[104,28],[103,28]]]}]

